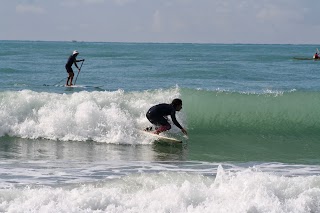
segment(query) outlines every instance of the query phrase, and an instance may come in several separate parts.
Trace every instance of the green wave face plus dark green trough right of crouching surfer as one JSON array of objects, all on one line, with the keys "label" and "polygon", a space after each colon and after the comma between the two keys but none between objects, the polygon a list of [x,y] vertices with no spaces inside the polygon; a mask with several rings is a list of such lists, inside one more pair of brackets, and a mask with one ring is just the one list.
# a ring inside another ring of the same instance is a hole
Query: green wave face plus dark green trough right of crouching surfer
[{"label": "green wave face plus dark green trough right of crouching surfer", "polygon": [[320,93],[182,91],[192,159],[320,163]]}]

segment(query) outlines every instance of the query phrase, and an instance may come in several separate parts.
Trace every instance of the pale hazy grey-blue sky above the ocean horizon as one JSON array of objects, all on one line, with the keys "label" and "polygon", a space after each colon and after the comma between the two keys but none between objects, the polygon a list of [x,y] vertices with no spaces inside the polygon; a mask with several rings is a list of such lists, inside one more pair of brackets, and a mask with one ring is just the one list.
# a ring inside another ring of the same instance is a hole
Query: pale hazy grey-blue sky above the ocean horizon
[{"label": "pale hazy grey-blue sky above the ocean horizon", "polygon": [[0,40],[319,44],[319,0],[0,0]]}]

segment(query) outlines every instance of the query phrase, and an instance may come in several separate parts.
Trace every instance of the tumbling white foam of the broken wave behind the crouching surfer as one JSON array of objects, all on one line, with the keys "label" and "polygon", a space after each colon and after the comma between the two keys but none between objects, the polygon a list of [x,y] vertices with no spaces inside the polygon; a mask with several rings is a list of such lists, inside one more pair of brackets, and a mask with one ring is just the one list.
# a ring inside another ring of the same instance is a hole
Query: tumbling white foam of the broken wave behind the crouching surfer
[{"label": "tumbling white foam of the broken wave behind the crouching surfer", "polygon": [[[56,94],[23,90],[0,96],[0,136],[105,143],[150,143],[137,128],[149,124],[154,104],[170,103],[179,88],[143,92],[103,91]],[[182,122],[184,114],[178,113]],[[173,129],[174,130],[174,129]],[[139,142],[137,142],[139,141]]]}]

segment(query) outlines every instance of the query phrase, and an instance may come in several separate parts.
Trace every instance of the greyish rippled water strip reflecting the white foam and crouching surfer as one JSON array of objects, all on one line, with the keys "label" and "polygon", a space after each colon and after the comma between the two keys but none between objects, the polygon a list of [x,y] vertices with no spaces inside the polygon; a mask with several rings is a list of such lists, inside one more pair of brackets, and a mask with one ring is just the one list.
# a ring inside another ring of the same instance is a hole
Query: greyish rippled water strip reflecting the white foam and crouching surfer
[{"label": "greyish rippled water strip reflecting the white foam and crouching surfer", "polygon": [[0,159],[63,161],[185,161],[187,145],[119,145],[92,141],[0,138]]}]

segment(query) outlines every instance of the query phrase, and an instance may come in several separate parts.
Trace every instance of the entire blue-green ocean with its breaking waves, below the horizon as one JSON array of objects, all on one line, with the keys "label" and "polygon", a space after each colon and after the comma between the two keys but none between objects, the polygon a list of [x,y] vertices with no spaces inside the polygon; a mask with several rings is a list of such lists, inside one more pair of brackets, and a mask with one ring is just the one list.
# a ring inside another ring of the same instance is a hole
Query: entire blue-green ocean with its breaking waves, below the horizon
[{"label": "entire blue-green ocean with its breaking waves, below the horizon", "polygon": [[316,48],[0,41],[0,212],[320,212]]}]

